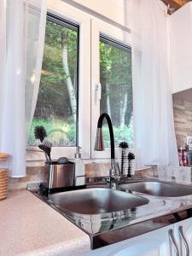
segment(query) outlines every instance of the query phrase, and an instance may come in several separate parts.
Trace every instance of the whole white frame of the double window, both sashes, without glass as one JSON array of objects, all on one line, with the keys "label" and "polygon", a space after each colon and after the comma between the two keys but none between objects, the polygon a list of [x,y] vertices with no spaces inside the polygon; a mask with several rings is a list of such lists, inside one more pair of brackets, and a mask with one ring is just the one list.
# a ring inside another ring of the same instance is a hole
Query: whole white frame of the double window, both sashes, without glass
[{"label": "whole white frame of the double window, both sashes, without glass", "polygon": [[[61,0],[48,0],[48,12],[79,25],[79,146],[82,159],[106,162],[110,159],[110,148],[102,152],[94,150],[100,116],[100,105],[96,102],[96,84],[100,84],[100,35],[131,47],[131,33]],[[134,88],[132,91],[134,110]],[[75,147],[53,147],[51,156],[53,160],[63,155],[73,160],[75,152]],[[115,155],[118,156],[118,148]],[[26,161],[44,161],[44,154],[38,147],[27,147]]]}]

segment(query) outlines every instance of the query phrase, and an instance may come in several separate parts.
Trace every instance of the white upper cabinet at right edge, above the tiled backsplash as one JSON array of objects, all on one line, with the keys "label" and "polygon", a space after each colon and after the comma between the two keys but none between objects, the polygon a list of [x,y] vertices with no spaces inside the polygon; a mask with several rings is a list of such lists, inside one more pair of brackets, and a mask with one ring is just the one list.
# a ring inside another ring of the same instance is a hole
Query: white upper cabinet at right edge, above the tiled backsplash
[{"label": "white upper cabinet at right edge, above the tiled backsplash", "polygon": [[192,88],[192,2],[169,17],[172,92]]}]

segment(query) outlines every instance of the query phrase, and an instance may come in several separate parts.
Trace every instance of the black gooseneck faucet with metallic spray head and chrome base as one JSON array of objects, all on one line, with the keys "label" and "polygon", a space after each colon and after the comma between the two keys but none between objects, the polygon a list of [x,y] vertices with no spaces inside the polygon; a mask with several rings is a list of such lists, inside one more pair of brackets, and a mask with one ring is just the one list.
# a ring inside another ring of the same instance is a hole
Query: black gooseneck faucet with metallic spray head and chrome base
[{"label": "black gooseneck faucet with metallic spray head and chrome base", "polygon": [[120,172],[119,172],[118,164],[115,163],[113,125],[112,125],[112,122],[111,122],[111,119],[110,119],[108,113],[102,113],[98,119],[95,150],[96,151],[105,150],[104,145],[103,145],[103,139],[102,139],[102,122],[103,122],[104,118],[106,118],[108,121],[108,130],[109,130],[110,144],[111,144],[111,168],[109,170],[110,187],[112,189],[116,189],[118,180],[120,178]]}]

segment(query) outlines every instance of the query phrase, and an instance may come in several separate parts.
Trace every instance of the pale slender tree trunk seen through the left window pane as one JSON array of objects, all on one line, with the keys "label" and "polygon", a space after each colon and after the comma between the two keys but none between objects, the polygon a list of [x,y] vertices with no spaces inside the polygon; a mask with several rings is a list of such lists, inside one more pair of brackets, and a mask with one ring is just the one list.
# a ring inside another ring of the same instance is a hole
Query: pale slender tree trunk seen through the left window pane
[{"label": "pale slender tree trunk seen through the left window pane", "polygon": [[73,113],[73,120],[74,120],[74,123],[76,123],[77,101],[76,101],[74,86],[69,73],[68,53],[67,53],[67,32],[65,30],[61,32],[61,46],[62,46],[62,67],[63,67],[64,73],[66,73],[67,75],[67,79],[66,79],[67,90],[70,98],[70,104],[71,104],[72,113]]}]

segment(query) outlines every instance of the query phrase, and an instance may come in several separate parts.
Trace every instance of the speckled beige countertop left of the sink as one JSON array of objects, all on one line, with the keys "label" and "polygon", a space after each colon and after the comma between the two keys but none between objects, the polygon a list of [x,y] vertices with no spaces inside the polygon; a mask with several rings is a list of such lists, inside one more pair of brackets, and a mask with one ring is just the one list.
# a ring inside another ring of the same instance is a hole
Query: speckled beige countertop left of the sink
[{"label": "speckled beige countertop left of the sink", "polygon": [[65,255],[90,251],[90,238],[26,190],[0,201],[0,256]]}]

